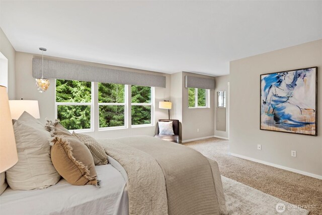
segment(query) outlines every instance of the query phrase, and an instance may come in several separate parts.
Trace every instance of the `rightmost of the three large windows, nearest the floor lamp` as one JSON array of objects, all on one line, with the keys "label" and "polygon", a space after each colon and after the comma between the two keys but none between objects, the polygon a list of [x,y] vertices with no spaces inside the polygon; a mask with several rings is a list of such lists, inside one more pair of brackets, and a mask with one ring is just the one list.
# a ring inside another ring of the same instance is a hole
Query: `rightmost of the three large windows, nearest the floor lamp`
[{"label": "rightmost of the three large windows, nearest the floor lamp", "polygon": [[131,87],[132,125],[152,124],[152,88]]}]

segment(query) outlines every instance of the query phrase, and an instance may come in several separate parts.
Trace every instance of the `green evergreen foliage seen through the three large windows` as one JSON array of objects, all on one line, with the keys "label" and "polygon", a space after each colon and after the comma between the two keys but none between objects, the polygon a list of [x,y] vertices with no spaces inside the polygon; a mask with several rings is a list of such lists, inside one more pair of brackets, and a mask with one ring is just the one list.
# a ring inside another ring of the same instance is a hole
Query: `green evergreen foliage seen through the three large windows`
[{"label": "green evergreen foliage seen through the three large windows", "polygon": [[[125,85],[99,83],[98,87],[100,127],[124,126]],[[151,103],[150,87],[132,86],[131,92],[132,103]],[[91,95],[91,82],[56,80],[56,102],[90,103]],[[131,111],[132,125],[151,123],[151,106],[132,105]],[[58,105],[57,117],[69,130],[91,128],[90,105]]]}]

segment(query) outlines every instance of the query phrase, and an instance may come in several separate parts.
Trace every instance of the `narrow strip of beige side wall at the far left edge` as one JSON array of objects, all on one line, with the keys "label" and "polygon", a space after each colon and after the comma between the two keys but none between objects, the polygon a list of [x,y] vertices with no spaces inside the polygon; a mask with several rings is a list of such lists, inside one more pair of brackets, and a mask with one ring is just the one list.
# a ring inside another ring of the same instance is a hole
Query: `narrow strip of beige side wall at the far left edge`
[{"label": "narrow strip of beige side wall at the far left edge", "polygon": [[15,99],[15,60],[16,50],[0,28],[0,52],[8,59],[8,96]]}]

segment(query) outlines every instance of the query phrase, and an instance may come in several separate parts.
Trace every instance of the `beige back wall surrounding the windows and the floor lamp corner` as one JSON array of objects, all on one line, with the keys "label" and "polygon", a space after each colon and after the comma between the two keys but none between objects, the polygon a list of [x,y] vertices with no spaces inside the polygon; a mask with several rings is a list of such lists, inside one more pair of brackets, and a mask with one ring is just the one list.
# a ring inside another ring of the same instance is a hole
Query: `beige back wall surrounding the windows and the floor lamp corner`
[{"label": "beige back wall surrounding the windows and the floor lamp corner", "polygon": [[[54,80],[50,80],[51,86],[47,92],[39,93],[35,86],[35,79],[32,77],[32,58],[34,54],[17,52],[16,53],[16,98],[17,99],[31,99],[38,100],[40,109],[40,121],[45,122],[45,118],[55,118],[55,87]],[[96,65],[102,67],[120,68],[116,66],[109,66],[103,64],[89,63],[84,61],[67,60],[53,57],[45,57],[48,59],[59,59],[67,62],[76,62],[87,65]],[[142,73],[153,72],[137,70],[131,68],[121,68],[129,71],[139,71]],[[159,75],[159,73],[157,73]],[[188,89],[184,87],[184,77],[189,74],[190,76],[197,76],[203,78],[214,77],[202,76],[191,73],[176,73],[176,74],[163,74],[166,76],[167,86],[166,88],[155,88],[155,111],[154,121],[158,119],[167,119],[168,111],[165,109],[158,108],[158,102],[164,99],[173,102],[173,108],[171,110],[171,118],[179,119],[183,125],[181,127],[181,139],[195,139],[205,136],[214,135],[214,91],[210,91],[210,108],[188,108]],[[197,132],[199,128],[199,132]],[[153,135],[155,126],[147,127],[136,127],[136,128],[125,128],[106,130],[98,132],[89,132],[90,135],[97,138],[105,137],[120,137],[130,135]]]}]

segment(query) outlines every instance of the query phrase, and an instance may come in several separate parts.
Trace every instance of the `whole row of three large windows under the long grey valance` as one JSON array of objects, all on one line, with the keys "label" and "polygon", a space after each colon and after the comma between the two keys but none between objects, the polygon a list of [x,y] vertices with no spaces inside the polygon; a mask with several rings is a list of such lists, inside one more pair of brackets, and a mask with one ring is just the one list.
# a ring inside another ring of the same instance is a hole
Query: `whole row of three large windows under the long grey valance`
[{"label": "whole row of three large windows under the long grey valance", "polygon": [[68,130],[152,125],[153,93],[152,87],[57,79],[56,117]]}]

